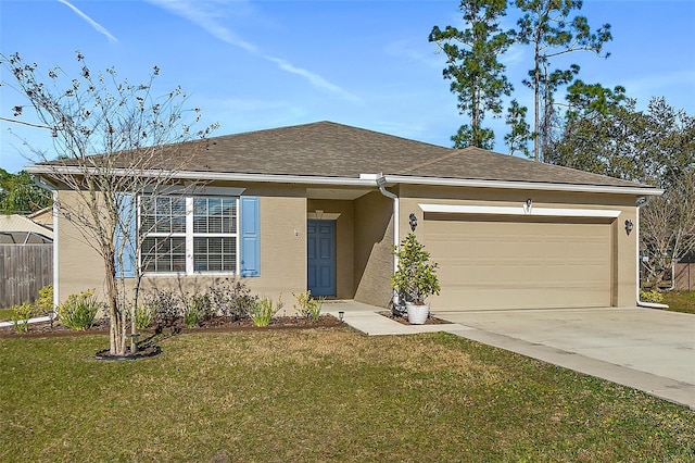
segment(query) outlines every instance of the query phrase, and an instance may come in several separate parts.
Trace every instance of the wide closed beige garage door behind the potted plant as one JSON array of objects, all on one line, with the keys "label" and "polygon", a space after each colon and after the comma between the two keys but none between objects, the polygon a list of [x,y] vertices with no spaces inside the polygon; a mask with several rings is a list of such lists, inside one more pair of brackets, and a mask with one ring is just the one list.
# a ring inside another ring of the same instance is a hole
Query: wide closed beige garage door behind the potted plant
[{"label": "wide closed beige garage door behind the potted plant", "polygon": [[610,305],[610,225],[425,221],[440,264],[432,311]]}]

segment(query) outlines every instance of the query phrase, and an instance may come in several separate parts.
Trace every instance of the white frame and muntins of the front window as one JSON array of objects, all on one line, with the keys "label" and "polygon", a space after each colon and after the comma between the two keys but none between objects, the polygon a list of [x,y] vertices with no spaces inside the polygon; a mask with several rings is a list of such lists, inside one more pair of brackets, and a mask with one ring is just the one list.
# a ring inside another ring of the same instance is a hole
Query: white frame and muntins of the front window
[{"label": "white frame and muntins of the front window", "polygon": [[[161,197],[176,197],[176,195],[162,195]],[[160,198],[161,198],[160,197]],[[157,197],[154,197],[157,198]],[[180,197],[179,197],[180,198]],[[240,259],[240,229],[241,229],[241,213],[240,213],[240,199],[238,196],[226,196],[226,195],[194,195],[194,196],[184,196],[185,199],[185,210],[186,210],[186,227],[184,233],[162,233],[162,232],[149,232],[146,233],[146,237],[153,238],[173,238],[173,237],[184,237],[185,246],[186,246],[186,271],[185,272],[156,272],[156,271],[144,271],[144,276],[193,276],[193,275],[229,275],[236,276],[240,274],[241,271],[241,259]],[[195,198],[224,198],[224,199],[233,199],[235,201],[235,233],[194,233],[194,200]],[[142,208],[141,208],[142,197],[138,198],[138,227],[141,225],[142,221]],[[197,271],[194,264],[194,241],[197,237],[205,237],[205,238],[233,238],[235,239],[235,268],[233,271]],[[144,264],[142,262],[142,250],[139,250],[138,263],[140,268],[144,268]]]}]

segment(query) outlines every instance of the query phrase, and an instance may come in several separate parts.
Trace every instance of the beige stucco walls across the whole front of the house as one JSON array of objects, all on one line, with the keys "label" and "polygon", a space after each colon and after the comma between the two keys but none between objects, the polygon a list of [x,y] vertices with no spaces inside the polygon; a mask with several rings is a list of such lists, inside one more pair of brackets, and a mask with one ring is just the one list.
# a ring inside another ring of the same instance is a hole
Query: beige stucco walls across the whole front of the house
[{"label": "beige stucco walls across the whole front of the house", "polygon": [[[387,306],[391,299],[390,276],[393,258],[393,200],[378,191],[354,201],[307,200],[306,187],[298,185],[218,183],[215,186],[245,188],[244,195],[261,197],[261,276],[245,278],[251,289],[262,296],[283,296],[286,306],[293,302],[292,292],[306,289],[306,218],[307,212],[323,210],[340,213],[337,218],[337,297]],[[635,304],[636,234],[628,236],[624,221],[635,223],[634,196],[572,193],[531,190],[452,188],[407,186],[394,188],[400,196],[401,238],[409,232],[408,215],[415,213],[426,233],[425,216],[418,203],[521,205],[528,198],[533,205],[552,208],[615,209],[620,216],[610,227],[610,304]],[[61,192],[70,201],[73,192]],[[636,223],[635,223],[636,225]],[[73,224],[58,220],[58,262],[63,300],[70,293],[88,288],[103,291],[104,271],[99,255],[85,242]],[[184,287],[204,289],[218,276],[172,276],[148,278],[144,287]]]}]

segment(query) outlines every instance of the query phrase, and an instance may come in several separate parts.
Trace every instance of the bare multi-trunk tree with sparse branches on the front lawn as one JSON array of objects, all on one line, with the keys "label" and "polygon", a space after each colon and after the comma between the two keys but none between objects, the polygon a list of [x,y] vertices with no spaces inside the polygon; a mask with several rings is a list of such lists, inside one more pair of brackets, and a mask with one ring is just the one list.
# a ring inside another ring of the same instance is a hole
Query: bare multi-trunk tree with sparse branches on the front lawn
[{"label": "bare multi-trunk tree with sparse branches on the front lawn", "polygon": [[[151,93],[160,73],[156,66],[146,84],[134,85],[119,79],[113,68],[92,74],[80,52],[76,59],[78,77],[54,67],[46,78],[37,64],[25,62],[17,53],[0,55],[14,77],[3,85],[26,101],[12,108],[15,118],[2,118],[50,132],[53,155],[29,149],[37,165],[28,171],[58,190],[59,215],[103,260],[110,352],[124,355],[128,338],[130,350],[136,350],[127,326],[129,318],[135,334],[144,268],[137,259],[147,232],[138,230],[137,199],[176,188],[177,173],[194,166],[195,153],[204,148],[204,141],[194,139],[206,137],[215,126],[193,134],[200,111],[184,109],[187,97],[180,87],[162,97]],[[134,279],[123,272],[128,266],[134,268]]]}]

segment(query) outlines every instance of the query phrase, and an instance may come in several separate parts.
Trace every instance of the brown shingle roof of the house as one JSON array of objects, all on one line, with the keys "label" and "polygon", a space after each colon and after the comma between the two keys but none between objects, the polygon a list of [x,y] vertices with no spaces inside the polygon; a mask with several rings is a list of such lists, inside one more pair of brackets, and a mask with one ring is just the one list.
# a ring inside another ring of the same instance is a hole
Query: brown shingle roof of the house
[{"label": "brown shingle roof of the house", "polygon": [[[195,149],[193,148],[195,147]],[[181,149],[185,148],[185,149]],[[195,151],[194,155],[190,153]],[[539,163],[479,148],[453,149],[332,122],[226,135],[165,148],[162,168],[354,177],[359,174],[645,187],[618,178]],[[178,157],[190,157],[181,164]]]}]

